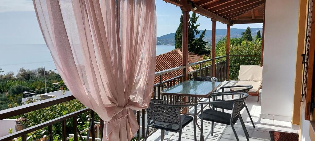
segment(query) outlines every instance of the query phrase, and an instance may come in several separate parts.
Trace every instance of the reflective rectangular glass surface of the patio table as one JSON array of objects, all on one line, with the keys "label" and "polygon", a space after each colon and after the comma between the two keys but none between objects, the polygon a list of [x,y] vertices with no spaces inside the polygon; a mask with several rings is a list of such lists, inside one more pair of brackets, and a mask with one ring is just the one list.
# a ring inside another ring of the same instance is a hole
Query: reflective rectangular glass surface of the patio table
[{"label": "reflective rectangular glass surface of the patio table", "polygon": [[190,97],[208,97],[221,85],[222,82],[184,81],[161,91],[161,94]]}]

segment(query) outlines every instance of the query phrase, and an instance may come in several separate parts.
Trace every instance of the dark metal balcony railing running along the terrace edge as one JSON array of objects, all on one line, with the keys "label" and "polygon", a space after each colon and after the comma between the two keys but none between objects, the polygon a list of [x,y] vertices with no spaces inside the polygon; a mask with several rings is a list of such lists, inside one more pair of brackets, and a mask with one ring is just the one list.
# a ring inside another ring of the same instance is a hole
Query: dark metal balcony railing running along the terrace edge
[{"label": "dark metal balcony railing running along the terrace edge", "polygon": [[[241,61],[241,62],[242,61],[258,61],[258,60],[244,60],[242,58],[240,58],[240,59],[237,58],[238,60],[236,60],[236,59],[232,59],[232,56],[230,55],[231,60],[230,60],[230,64],[228,64],[228,57],[229,56],[226,55],[226,56],[221,56],[221,57],[216,57],[215,58],[215,60],[216,60],[216,63],[215,63],[215,77],[217,77],[219,79],[219,81],[224,81],[224,80],[226,80],[228,78],[227,77],[227,74],[229,73],[228,65],[231,65],[231,63],[233,61]],[[235,56],[235,57],[238,57],[238,56]],[[257,56],[245,56],[245,57],[257,57]],[[202,60],[202,61],[199,61],[199,62],[188,64],[188,67],[194,67],[195,70],[189,72],[187,74],[188,75],[187,78],[190,79],[190,78],[193,78],[193,77],[196,77],[196,76],[211,76],[212,72],[213,72],[212,71],[211,61],[212,61],[212,59],[207,59],[207,60]],[[241,65],[241,63],[238,63],[237,65]],[[152,99],[163,98],[169,104],[173,104],[176,101],[178,101],[180,99],[183,99],[184,97],[179,97],[179,96],[165,96],[165,97],[163,97],[160,94],[160,92],[163,89],[165,89],[166,87],[177,85],[178,83],[183,81],[183,75],[175,76],[175,77],[173,77],[171,79],[168,79],[166,81],[162,81],[162,75],[165,75],[165,74],[167,74],[169,72],[183,70],[183,69],[187,70],[185,66],[178,66],[178,67],[175,67],[175,68],[172,68],[172,69],[156,72],[155,76],[159,77],[160,81],[159,81],[159,83],[154,84],[154,86],[153,86]],[[60,90],[60,86],[49,87],[48,91],[58,91],[58,90]],[[34,91],[26,91],[24,94],[27,97],[31,97],[31,98],[34,98],[34,99],[41,100],[37,96],[40,95],[40,94],[43,94],[43,91],[45,91],[45,89],[38,89],[38,90],[34,90]],[[20,114],[24,114],[24,113],[27,113],[27,112],[35,111],[35,110],[38,110],[38,109],[42,109],[42,108],[45,108],[45,107],[49,107],[49,106],[52,106],[52,105],[56,105],[56,104],[59,104],[59,103],[67,102],[67,101],[70,101],[70,100],[73,100],[73,99],[75,99],[75,98],[72,95],[63,95],[63,96],[59,96],[59,97],[54,97],[54,98],[45,99],[45,100],[42,100],[42,101],[29,103],[29,104],[22,105],[22,106],[19,106],[19,107],[13,107],[13,108],[10,108],[10,109],[2,110],[2,111],[0,111],[0,120],[6,119],[6,118],[10,118],[10,117],[14,117],[14,116],[17,116],[17,115],[20,115]],[[187,98],[186,100],[191,101],[190,98]],[[78,132],[79,130],[77,128],[78,124],[82,124],[82,119],[77,119],[77,117],[80,114],[83,114],[83,113],[85,113],[85,114],[88,113],[89,114],[89,118],[88,119],[89,119],[89,125],[90,126],[89,126],[88,130],[84,131],[84,132],[88,132],[87,136],[86,135],[83,136],[81,132]],[[141,111],[135,111],[135,115],[137,117],[137,121],[138,121],[138,124],[140,126],[140,129],[136,133],[136,140],[142,140],[142,138],[144,138],[144,135],[145,135],[146,110],[143,109]],[[69,122],[69,121],[72,122],[72,124],[73,124],[73,126],[72,126],[73,129],[72,130],[74,131],[74,133],[67,134],[66,129],[68,127],[66,127],[66,121],[67,122]],[[96,126],[95,127],[95,122],[100,122],[100,126]],[[40,123],[38,125],[28,127],[28,128],[26,128],[24,130],[21,130],[21,131],[9,134],[7,136],[0,137],[0,141],[8,141],[8,140],[11,140],[11,139],[17,138],[17,137],[21,137],[22,141],[26,141],[26,140],[32,138],[32,137],[27,137],[28,133],[31,133],[31,132],[34,132],[34,131],[37,131],[37,130],[40,130],[40,129],[43,129],[43,128],[48,129],[48,130],[47,131],[43,131],[41,135],[49,137],[50,141],[52,141],[53,138],[54,138],[53,132],[55,132],[55,131],[53,131],[53,128],[52,128],[52,126],[54,124],[59,124],[62,127],[62,133],[61,133],[62,140],[67,140],[67,139],[70,139],[70,138],[74,138],[74,141],[78,141],[78,140],[82,140],[83,141],[83,138],[89,138],[92,141],[95,141],[95,134],[94,134],[95,128],[97,129],[97,131],[102,133],[103,127],[104,127],[103,123],[104,122],[101,119],[99,121],[95,121],[95,113],[94,113],[94,111],[92,111],[89,108],[83,108],[81,110],[78,110],[78,111],[66,114],[66,115],[61,116],[59,118],[55,118],[55,119],[52,119],[52,120]],[[151,130],[150,135],[152,133],[154,133],[154,132],[155,132],[155,130]],[[90,137],[88,137],[88,136],[90,136]],[[100,134],[99,138],[102,138],[102,134]]]}]

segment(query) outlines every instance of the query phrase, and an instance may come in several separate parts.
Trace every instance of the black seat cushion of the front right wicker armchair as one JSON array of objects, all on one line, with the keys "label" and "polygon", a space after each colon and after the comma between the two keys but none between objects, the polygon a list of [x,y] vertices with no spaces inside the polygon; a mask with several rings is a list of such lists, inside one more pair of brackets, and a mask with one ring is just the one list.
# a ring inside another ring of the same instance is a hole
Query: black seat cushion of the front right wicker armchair
[{"label": "black seat cushion of the front right wicker armchair", "polygon": [[[201,118],[201,114],[199,114],[198,117]],[[236,121],[238,120],[238,117],[239,116],[236,116],[235,118],[233,118],[233,121],[232,121],[233,124],[236,123]],[[216,111],[212,109],[206,109],[203,111],[203,120],[206,120],[206,121],[212,121],[215,123],[231,125],[230,119],[231,119],[231,114],[226,113],[226,112]]]}]

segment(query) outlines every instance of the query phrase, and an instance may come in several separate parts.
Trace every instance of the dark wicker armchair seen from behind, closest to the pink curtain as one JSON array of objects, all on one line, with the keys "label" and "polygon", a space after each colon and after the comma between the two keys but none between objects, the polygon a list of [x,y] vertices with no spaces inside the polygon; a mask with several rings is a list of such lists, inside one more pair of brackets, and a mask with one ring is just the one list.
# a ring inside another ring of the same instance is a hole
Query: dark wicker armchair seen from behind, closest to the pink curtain
[{"label": "dark wicker armchair seen from behind, closest to the pink curtain", "polygon": [[[149,107],[146,108],[147,114],[147,128],[145,141],[147,139],[149,128],[161,129],[161,141],[164,138],[164,130],[170,132],[179,133],[178,140],[181,139],[182,128],[193,121],[194,123],[194,138],[197,140],[196,136],[196,119],[191,116],[181,115],[180,110],[182,107],[195,107],[195,113],[197,112],[198,103],[193,104],[162,104],[162,99],[151,100]],[[157,103],[159,102],[159,103]],[[151,122],[152,121],[152,122]]]}]

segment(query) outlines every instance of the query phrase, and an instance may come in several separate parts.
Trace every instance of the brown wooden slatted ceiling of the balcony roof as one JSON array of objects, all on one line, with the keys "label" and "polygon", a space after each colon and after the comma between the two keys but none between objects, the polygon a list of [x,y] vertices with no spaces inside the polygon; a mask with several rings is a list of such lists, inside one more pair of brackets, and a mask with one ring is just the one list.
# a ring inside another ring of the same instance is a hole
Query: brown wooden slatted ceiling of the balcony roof
[{"label": "brown wooden slatted ceiling of the balcony roof", "polygon": [[[163,0],[224,24],[262,23],[265,0]],[[193,10],[192,3],[197,10]]]}]

